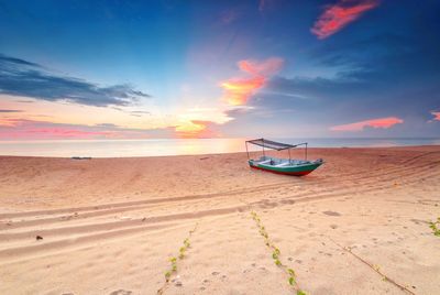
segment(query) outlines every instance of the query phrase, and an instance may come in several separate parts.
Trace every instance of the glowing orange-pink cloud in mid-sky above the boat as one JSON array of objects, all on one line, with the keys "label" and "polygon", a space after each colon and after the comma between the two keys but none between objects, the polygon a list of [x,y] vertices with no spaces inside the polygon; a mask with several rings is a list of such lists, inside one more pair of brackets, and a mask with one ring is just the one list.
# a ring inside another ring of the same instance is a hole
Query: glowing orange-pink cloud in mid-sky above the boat
[{"label": "glowing orange-pink cloud in mid-sky above the boat", "polygon": [[245,105],[252,95],[262,88],[267,79],[283,67],[283,64],[284,61],[278,57],[271,57],[263,62],[239,62],[239,68],[251,77],[223,81],[221,84],[221,87],[224,89],[223,100],[231,106]]}]

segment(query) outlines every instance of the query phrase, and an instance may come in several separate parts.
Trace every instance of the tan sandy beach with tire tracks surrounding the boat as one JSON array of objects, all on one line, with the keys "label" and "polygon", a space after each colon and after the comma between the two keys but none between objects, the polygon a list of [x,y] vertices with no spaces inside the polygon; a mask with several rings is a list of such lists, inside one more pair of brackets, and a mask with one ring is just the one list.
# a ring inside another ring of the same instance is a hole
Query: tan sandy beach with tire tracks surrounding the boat
[{"label": "tan sandy beach with tire tracks surrounding the boat", "polygon": [[440,294],[440,146],[309,156],[305,177],[245,153],[2,156],[0,294]]}]

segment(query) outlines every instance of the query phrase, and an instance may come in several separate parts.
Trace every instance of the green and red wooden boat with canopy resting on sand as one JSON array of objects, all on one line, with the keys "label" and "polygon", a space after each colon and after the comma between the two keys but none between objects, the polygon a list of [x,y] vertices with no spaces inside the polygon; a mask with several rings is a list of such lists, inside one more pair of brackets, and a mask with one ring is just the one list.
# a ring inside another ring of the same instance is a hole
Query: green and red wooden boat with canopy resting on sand
[{"label": "green and red wooden boat with canopy resting on sand", "polygon": [[[263,148],[263,155],[260,159],[250,159],[248,144],[260,145]],[[307,142],[298,143],[298,144],[287,144],[265,139],[255,139],[249,140],[245,142],[246,145],[246,153],[248,153],[248,162],[251,168],[262,170],[266,172],[277,173],[277,174],[285,174],[285,175],[294,175],[294,176],[304,176],[320,165],[323,164],[322,159],[318,159],[315,161],[307,160]],[[305,145],[305,159],[304,160],[296,160],[290,157],[290,149],[298,148],[300,145]],[[283,151],[288,150],[288,159],[278,159],[273,156],[267,156],[265,154],[265,149]]]}]

